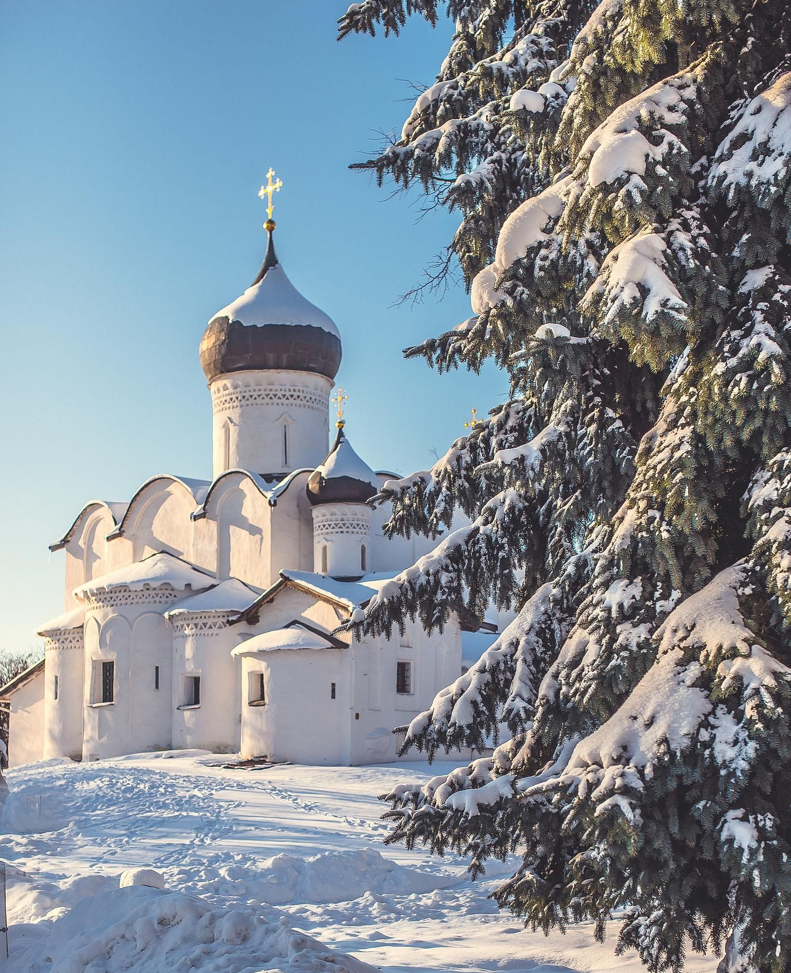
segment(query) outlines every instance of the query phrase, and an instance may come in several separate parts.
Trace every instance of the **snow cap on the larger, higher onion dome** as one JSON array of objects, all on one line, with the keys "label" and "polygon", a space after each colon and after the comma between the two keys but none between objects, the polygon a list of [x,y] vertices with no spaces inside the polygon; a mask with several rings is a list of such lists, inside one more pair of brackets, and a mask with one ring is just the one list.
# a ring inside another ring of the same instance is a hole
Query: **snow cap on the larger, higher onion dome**
[{"label": "snow cap on the larger, higher onion dome", "polygon": [[211,320],[227,317],[241,324],[298,324],[312,325],[335,335],[341,335],[332,318],[300,294],[279,264],[270,267],[257,284],[248,287],[232,304],[212,314]]}]

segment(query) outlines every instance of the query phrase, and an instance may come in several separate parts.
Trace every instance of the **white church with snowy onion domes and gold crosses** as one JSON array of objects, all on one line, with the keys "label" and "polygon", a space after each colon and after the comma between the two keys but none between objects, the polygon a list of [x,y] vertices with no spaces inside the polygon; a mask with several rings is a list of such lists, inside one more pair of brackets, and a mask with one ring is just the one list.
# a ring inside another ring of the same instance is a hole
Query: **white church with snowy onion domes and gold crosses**
[{"label": "white church with snowy onion domes and gold crosses", "polygon": [[387,510],[367,501],[395,474],[351,448],[340,392],[330,443],[341,337],[279,264],[269,212],[261,270],[200,342],[213,479],[91,501],[51,545],[65,612],[37,631],[44,661],[0,692],[12,765],[184,747],[391,761],[392,728],[462,671],[457,620],[334,633],[429,542],[383,535]]}]

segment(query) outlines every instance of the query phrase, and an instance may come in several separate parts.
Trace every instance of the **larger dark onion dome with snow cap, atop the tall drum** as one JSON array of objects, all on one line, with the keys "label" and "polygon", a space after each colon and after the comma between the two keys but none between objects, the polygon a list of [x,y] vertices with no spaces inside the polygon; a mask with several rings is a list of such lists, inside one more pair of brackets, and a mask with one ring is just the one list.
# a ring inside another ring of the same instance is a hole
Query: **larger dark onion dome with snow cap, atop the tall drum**
[{"label": "larger dark onion dome with snow cap, atop the tall drum", "polygon": [[211,381],[228,372],[288,369],[335,378],[341,336],[335,322],[311,305],[277,261],[271,223],[267,256],[252,285],[218,310],[200,340],[200,365]]}]

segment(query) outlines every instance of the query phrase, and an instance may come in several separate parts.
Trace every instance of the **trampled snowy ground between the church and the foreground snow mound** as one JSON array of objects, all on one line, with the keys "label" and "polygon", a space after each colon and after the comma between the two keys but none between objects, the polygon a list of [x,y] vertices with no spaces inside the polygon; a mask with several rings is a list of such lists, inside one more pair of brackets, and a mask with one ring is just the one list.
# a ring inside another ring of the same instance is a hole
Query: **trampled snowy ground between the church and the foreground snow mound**
[{"label": "trampled snowy ground between the church and the foreground snow mound", "polygon": [[[126,868],[153,867],[168,888],[212,905],[267,916],[274,907],[387,973],[640,969],[633,956],[597,946],[589,924],[545,938],[500,914],[486,896],[507,866],[494,863],[485,882],[470,883],[463,863],[383,846],[376,795],[449,766],[243,772],[145,755],[13,772],[0,857],[27,878],[10,872],[12,944],[15,924],[53,919],[117,886]],[[38,797],[40,830],[23,833],[27,799]],[[695,958],[688,969],[715,966]]]}]

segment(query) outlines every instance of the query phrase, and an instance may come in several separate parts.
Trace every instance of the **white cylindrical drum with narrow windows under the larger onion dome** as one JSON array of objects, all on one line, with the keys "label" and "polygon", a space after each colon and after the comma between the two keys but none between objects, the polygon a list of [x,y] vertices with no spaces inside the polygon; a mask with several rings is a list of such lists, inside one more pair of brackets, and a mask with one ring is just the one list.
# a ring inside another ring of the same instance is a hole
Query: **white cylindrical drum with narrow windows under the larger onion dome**
[{"label": "white cylindrical drum with narrow windows under the larger onion dome", "polygon": [[209,387],[215,477],[234,468],[288,473],[327,455],[330,378],[271,369],[220,376]]}]

